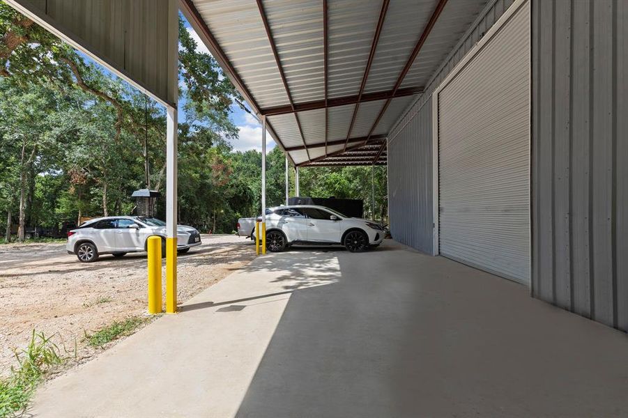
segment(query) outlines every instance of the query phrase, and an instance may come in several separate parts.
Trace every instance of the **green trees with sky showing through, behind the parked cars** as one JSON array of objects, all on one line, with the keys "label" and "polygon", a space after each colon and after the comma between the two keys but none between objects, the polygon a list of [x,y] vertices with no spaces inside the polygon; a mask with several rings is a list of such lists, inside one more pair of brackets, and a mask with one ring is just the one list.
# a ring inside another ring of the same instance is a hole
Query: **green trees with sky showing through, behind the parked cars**
[{"label": "green trees with sky showing through, behind the parked cars", "polygon": [[[164,190],[165,111],[151,98],[0,3],[0,211],[17,225],[126,215],[135,189]],[[179,23],[178,199],[181,223],[230,233],[259,213],[261,153],[234,151],[243,99]],[[146,163],[148,162],[148,178]],[[301,194],[364,199],[371,167],[307,168]],[[148,180],[148,181],[147,181]],[[385,215],[385,169],[376,167],[376,215]],[[293,173],[291,171],[291,189]],[[284,155],[267,156],[267,206],[284,202]],[[164,215],[163,201],[160,215]],[[15,233],[15,231],[13,231]]]}]

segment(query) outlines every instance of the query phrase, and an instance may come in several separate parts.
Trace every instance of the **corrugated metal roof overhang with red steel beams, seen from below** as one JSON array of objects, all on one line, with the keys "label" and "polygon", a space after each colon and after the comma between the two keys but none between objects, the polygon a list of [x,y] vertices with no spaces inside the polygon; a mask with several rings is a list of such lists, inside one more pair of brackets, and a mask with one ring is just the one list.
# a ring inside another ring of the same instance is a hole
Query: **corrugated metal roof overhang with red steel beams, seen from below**
[{"label": "corrugated metal roof overhang with red steel beams, seen from below", "polygon": [[[181,0],[298,166],[386,163],[386,137],[487,0]],[[261,140],[261,139],[260,139]]]}]

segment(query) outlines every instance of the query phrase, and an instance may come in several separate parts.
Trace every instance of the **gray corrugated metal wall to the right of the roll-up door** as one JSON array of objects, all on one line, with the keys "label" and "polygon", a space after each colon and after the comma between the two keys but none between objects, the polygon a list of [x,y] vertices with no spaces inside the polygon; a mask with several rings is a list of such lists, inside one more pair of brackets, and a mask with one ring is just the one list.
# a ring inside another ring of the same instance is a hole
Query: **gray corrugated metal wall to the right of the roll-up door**
[{"label": "gray corrugated metal wall to the right of the roll-up door", "polygon": [[628,3],[532,22],[533,295],[628,331]]}]

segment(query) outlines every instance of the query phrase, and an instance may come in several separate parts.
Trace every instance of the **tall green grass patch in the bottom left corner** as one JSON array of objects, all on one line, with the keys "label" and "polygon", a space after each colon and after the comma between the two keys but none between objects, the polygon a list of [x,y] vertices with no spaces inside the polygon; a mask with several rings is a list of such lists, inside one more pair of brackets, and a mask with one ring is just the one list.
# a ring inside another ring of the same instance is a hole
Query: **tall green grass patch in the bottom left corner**
[{"label": "tall green grass patch in the bottom left corner", "polygon": [[0,417],[11,417],[24,410],[46,373],[64,361],[50,337],[35,330],[29,346],[16,350],[15,357],[18,366],[11,367],[10,376],[0,380]]}]

